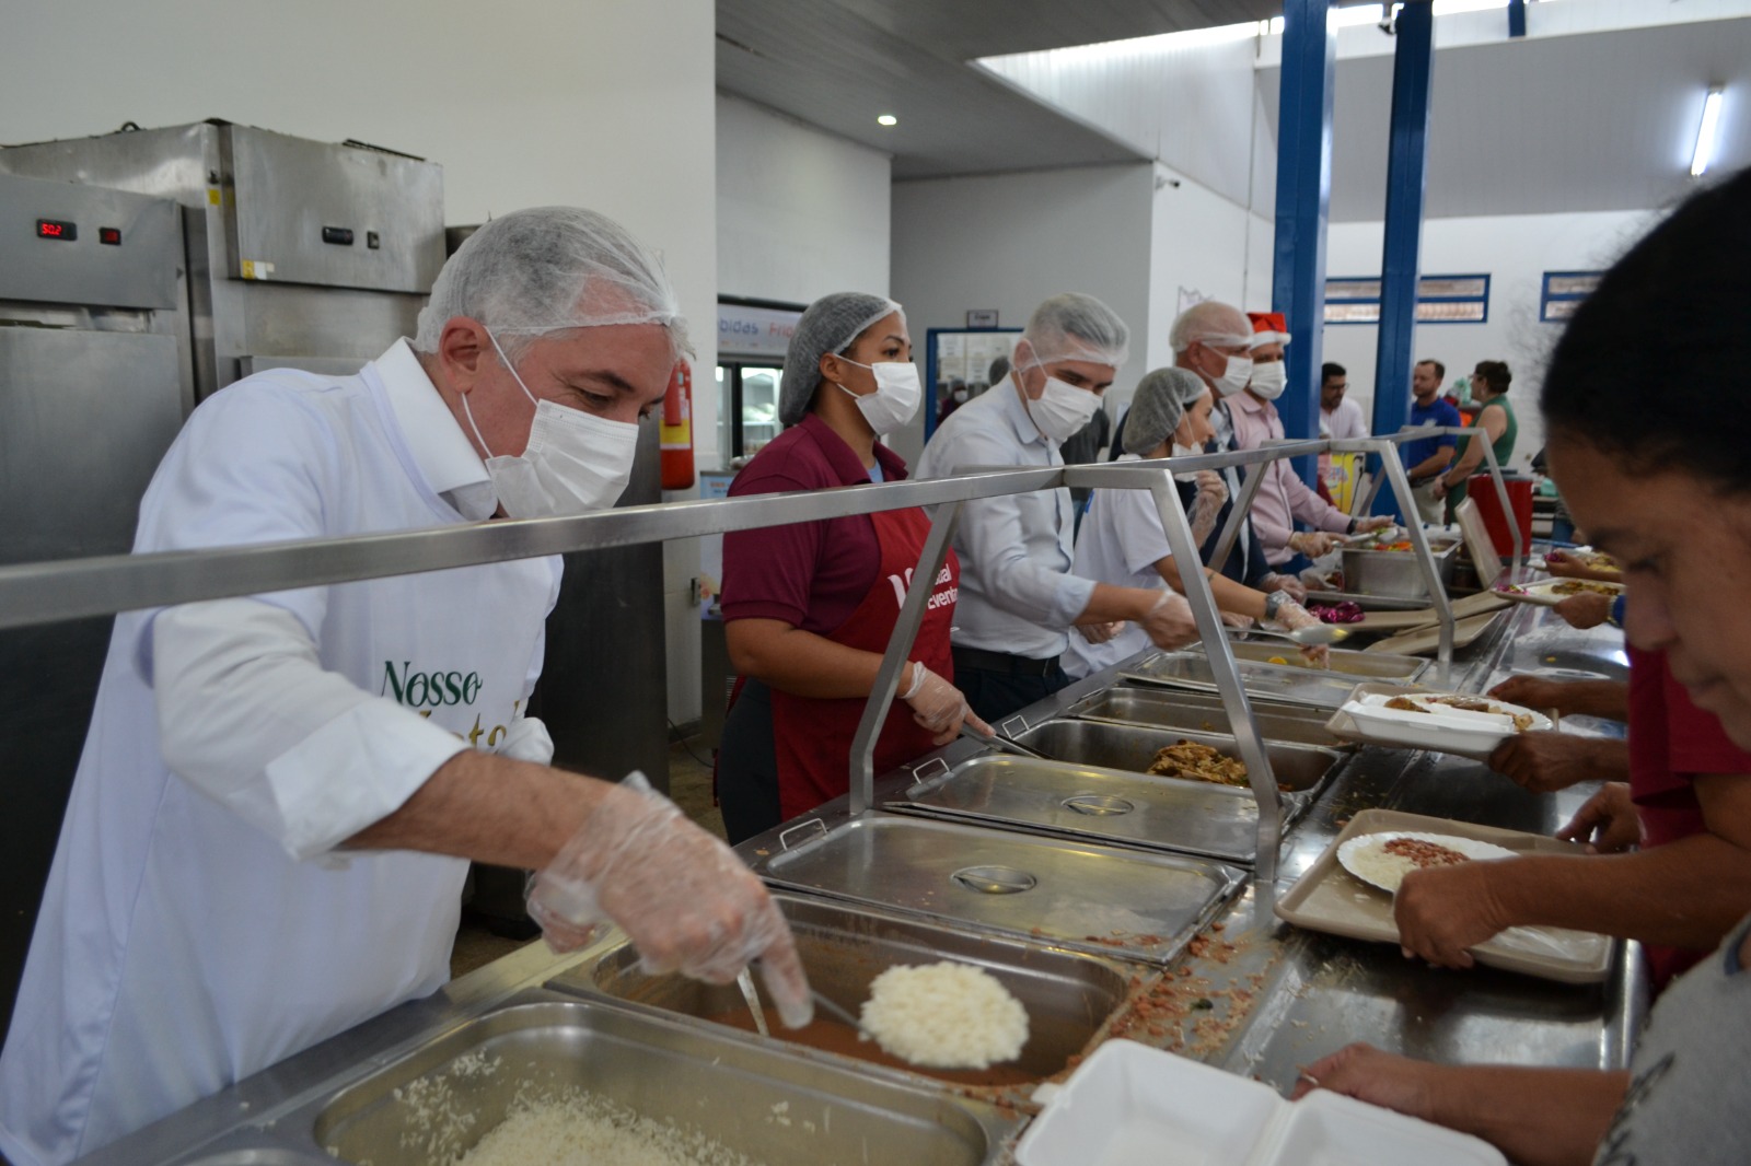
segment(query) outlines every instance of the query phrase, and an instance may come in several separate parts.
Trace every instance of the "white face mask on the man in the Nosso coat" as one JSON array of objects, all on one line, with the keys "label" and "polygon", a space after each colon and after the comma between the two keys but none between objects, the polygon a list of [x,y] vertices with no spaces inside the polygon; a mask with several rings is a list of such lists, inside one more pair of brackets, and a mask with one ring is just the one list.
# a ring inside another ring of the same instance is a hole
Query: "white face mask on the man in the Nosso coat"
[{"label": "white face mask on the man in the Nosso coat", "polygon": [[[487,474],[504,513],[511,518],[553,518],[613,506],[632,478],[639,427],[536,399],[504,359],[499,338],[492,333],[487,336],[517,387],[536,403],[529,446],[518,457],[492,457],[490,452],[487,457]],[[475,413],[468,408],[468,394],[462,394],[462,413],[485,450],[487,439],[480,436]]]}]

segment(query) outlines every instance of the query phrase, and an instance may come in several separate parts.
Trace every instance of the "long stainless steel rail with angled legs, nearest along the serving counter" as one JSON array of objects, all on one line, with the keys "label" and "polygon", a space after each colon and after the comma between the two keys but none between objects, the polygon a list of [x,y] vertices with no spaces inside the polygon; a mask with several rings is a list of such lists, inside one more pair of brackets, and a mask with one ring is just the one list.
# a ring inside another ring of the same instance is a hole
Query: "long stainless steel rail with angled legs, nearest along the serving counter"
[{"label": "long stainless steel rail with angled legs, nearest along the serving counter", "polygon": [[[851,749],[851,805],[863,812],[874,800],[876,734],[893,702],[900,669],[912,650],[925,606],[937,572],[947,555],[960,504],[1056,488],[1061,485],[1147,488],[1154,494],[1168,544],[1184,560],[1199,558],[1191,523],[1171,487],[1173,473],[1261,466],[1282,457],[1301,457],[1327,450],[1366,450],[1390,453],[1385,441],[1285,441],[1259,450],[1234,450],[1198,457],[1161,459],[1149,464],[1096,464],[984,473],[958,478],[844,487],[811,494],[777,494],[746,499],[667,502],[630,506],[571,518],[534,518],[482,522],[461,527],[368,534],[343,539],[308,539],[222,550],[166,551],[152,555],[105,555],[82,560],[23,564],[0,569],[0,629],[53,623],[79,616],[110,615],[145,608],[256,595],[264,592],[320,587],[394,574],[418,574],[536,555],[555,555],[602,546],[655,543],[676,537],[723,534],[767,525],[865,515],[911,506],[944,506],[933,518],[932,534],[919,555],[912,585],[907,588],[900,620],[888,641],[876,688],[865,704]],[[1411,506],[1410,485],[1396,457],[1383,457],[1401,504]],[[1257,481],[1262,474],[1250,474]],[[1236,506],[1238,513],[1238,506]],[[1420,530],[1411,539],[1424,560],[1431,595],[1441,615],[1441,664],[1452,660],[1453,616],[1436,578],[1434,560]],[[1282,812],[1276,784],[1262,739],[1254,727],[1250,706],[1234,665],[1220,615],[1203,572],[1184,576],[1194,620],[1203,636],[1224,709],[1236,725],[1238,748],[1247,762],[1254,797],[1259,804],[1259,874],[1269,886],[1275,874],[1276,846],[1282,839]]]}]

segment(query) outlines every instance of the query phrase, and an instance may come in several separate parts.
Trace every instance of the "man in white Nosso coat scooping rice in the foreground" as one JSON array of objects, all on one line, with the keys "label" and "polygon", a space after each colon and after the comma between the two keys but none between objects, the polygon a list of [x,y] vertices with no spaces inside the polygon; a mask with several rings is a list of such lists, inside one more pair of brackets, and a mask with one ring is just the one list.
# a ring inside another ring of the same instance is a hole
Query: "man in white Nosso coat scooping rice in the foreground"
[{"label": "man in white Nosso coat scooping rice in the foreground", "polygon": [[[205,401],[137,551],[611,506],[685,320],[602,215],[517,212],[357,376]],[[541,870],[550,942],[620,923],[648,970],[762,956],[760,882],[665,798],[548,769],[522,714],[559,558],[123,613],[0,1054],[0,1152],[70,1161],[448,979],[466,860]],[[655,587],[657,583],[651,581]]]}]

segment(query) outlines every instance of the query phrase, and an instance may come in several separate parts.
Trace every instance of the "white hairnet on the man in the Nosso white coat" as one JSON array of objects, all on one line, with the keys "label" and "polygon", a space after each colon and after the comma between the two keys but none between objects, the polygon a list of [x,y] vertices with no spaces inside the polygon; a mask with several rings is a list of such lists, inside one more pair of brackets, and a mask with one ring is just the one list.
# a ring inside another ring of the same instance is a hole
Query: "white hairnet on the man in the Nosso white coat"
[{"label": "white hairnet on the man in the Nosso white coat", "polygon": [[657,252],[581,207],[532,207],[492,219],[438,273],[413,347],[436,352],[443,326],[466,315],[515,359],[548,333],[662,324],[676,355],[686,319]]}]

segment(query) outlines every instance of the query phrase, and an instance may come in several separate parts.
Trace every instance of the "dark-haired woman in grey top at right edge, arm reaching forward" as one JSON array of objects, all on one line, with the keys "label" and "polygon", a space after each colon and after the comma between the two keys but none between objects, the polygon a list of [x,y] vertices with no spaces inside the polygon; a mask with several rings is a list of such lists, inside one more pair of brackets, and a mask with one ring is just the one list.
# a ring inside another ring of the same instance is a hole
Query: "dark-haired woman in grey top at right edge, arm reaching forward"
[{"label": "dark-haired woman in grey top at right edge, arm reaching forward", "polygon": [[[1663,655],[1740,748],[1751,748],[1751,396],[1733,382],[1751,368],[1747,270],[1751,172],[1740,172],[1606,275],[1564,333],[1541,399],[1551,474],[1576,523],[1623,564],[1630,646]],[[1438,1066],[1368,1045],[1306,1071],[1520,1162],[1744,1162],[1747,966],[1751,917],[1660,998],[1628,1073]]]}]

